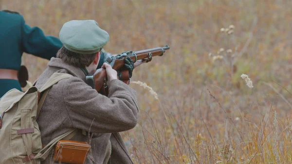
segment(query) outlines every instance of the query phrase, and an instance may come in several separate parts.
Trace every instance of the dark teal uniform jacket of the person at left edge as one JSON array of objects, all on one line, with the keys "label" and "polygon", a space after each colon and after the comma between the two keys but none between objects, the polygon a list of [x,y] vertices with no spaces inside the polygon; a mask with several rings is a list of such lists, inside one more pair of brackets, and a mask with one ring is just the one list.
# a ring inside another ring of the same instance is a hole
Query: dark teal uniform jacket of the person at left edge
[{"label": "dark teal uniform jacket of the person at left edge", "polygon": [[[28,26],[21,15],[0,11],[0,69],[18,71],[23,52],[50,60],[62,46],[58,38]],[[13,88],[21,91],[17,80],[0,79],[0,97]]]}]

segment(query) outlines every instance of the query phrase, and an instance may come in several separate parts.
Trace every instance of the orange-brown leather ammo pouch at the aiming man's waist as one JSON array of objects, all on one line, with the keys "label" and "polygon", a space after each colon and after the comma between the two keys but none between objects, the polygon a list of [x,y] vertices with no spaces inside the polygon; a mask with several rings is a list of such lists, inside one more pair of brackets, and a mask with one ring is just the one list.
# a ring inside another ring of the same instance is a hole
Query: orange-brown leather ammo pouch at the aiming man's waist
[{"label": "orange-brown leather ammo pouch at the aiming man's waist", "polygon": [[60,140],[55,146],[54,161],[66,164],[84,164],[91,146],[86,142]]}]

